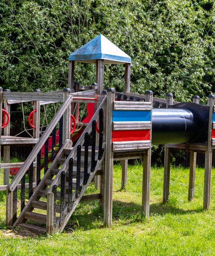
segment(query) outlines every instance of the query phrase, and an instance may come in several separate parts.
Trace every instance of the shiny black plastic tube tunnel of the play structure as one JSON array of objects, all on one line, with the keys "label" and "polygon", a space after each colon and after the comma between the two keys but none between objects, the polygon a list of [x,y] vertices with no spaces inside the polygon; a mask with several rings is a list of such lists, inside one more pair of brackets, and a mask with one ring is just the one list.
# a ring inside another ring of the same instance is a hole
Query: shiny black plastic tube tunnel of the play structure
[{"label": "shiny black plastic tube tunnel of the play structure", "polygon": [[151,143],[206,143],[209,107],[191,102],[152,109]]}]

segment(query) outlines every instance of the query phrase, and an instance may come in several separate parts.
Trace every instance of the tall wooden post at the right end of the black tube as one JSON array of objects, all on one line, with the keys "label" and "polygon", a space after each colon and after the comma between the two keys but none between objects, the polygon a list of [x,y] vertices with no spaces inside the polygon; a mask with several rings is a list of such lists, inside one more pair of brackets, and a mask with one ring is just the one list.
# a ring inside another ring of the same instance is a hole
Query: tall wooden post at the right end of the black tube
[{"label": "tall wooden post at the right end of the black tube", "polygon": [[214,95],[208,96],[209,117],[208,117],[208,134],[207,134],[207,150],[205,152],[204,164],[204,197],[203,208],[208,209],[210,206],[210,181],[211,181],[211,164],[212,164],[212,113],[214,105]]}]

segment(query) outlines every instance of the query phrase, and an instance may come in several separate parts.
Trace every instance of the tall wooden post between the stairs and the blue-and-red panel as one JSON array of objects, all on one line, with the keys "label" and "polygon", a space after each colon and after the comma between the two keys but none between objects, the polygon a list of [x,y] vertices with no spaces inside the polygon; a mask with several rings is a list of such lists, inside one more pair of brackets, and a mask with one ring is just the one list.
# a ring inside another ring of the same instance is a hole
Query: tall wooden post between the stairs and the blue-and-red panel
[{"label": "tall wooden post between the stairs and the blue-and-red panel", "polygon": [[113,151],[112,151],[112,108],[115,98],[115,89],[107,89],[105,129],[105,160],[104,160],[104,225],[112,225],[112,178],[113,178]]}]

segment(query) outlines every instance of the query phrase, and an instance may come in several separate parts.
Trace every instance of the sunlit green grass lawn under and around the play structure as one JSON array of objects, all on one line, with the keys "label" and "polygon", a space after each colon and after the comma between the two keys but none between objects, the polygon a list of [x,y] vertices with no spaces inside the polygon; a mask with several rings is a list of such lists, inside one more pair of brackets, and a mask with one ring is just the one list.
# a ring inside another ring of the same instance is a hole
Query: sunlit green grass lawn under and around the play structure
[{"label": "sunlit green grass lawn under and around the play structure", "polygon": [[[202,209],[204,170],[196,168],[194,200],[187,201],[189,171],[171,168],[169,201],[162,205],[163,169],[151,168],[150,217],[141,216],[142,167],[114,166],[113,225],[103,227],[98,201],[82,202],[63,233],[20,238],[5,235],[5,202],[0,201],[0,255],[215,255],[215,177],[208,211]],[[93,192],[93,185],[88,189]],[[75,228],[75,226],[77,226]],[[18,232],[19,230],[15,230]]]}]

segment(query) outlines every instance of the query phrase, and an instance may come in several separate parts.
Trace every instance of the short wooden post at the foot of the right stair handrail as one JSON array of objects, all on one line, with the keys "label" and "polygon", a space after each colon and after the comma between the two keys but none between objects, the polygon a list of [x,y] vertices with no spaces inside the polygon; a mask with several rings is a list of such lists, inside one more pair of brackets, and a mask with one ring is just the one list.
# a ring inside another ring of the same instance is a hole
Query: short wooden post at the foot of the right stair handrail
[{"label": "short wooden post at the foot of the right stair handrail", "polygon": [[46,233],[52,234],[54,232],[54,194],[47,193],[47,213],[46,213]]}]

